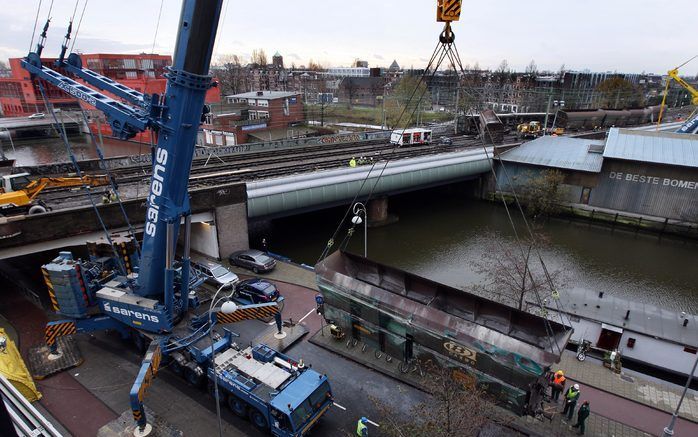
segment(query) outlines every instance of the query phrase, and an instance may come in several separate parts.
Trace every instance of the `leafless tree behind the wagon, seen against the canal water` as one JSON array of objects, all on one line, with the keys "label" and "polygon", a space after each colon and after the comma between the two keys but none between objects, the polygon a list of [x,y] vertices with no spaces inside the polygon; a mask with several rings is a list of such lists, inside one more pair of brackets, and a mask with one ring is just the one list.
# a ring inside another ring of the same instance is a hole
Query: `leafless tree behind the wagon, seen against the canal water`
[{"label": "leafless tree behind the wagon, seen against the canal water", "polygon": [[525,309],[526,298],[538,305],[554,290],[565,284],[560,270],[544,268],[537,250],[549,243],[540,233],[534,238],[523,238],[521,244],[508,244],[496,233],[486,233],[486,241],[474,270],[485,279],[484,284],[472,287],[477,294],[487,296],[520,310]]}]

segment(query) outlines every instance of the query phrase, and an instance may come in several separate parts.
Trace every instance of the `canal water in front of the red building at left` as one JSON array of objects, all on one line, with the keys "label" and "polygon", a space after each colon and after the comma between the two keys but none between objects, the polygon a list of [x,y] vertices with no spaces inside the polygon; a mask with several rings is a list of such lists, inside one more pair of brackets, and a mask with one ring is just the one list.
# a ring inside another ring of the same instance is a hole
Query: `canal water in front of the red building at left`
[{"label": "canal water in front of the red building at left", "polygon": [[[81,161],[84,159],[97,158],[97,150],[91,143],[89,135],[71,135],[68,137],[75,157]],[[46,138],[21,138],[13,139],[12,144],[7,139],[0,140],[5,156],[15,159],[16,166],[32,166],[42,164],[53,164],[57,162],[70,162],[68,151],[63,140],[58,137]],[[104,138],[102,148],[105,157],[134,155],[139,153],[149,153],[150,146],[131,141],[120,141],[111,138]]]}]

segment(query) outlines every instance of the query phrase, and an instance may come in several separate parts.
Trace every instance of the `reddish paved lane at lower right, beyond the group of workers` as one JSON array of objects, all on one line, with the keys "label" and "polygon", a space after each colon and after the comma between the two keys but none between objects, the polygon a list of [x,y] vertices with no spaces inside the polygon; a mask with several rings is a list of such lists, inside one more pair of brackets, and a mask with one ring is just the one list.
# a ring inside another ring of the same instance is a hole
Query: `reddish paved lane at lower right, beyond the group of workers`
[{"label": "reddish paved lane at lower right, beyond the group of workers", "polygon": [[[588,400],[591,411],[641,431],[661,435],[662,430],[671,420],[671,415],[663,411],[612,395],[582,383],[579,383],[579,386],[582,392],[580,402],[585,399]],[[678,419],[674,430],[677,436],[698,436],[698,423]]]}]

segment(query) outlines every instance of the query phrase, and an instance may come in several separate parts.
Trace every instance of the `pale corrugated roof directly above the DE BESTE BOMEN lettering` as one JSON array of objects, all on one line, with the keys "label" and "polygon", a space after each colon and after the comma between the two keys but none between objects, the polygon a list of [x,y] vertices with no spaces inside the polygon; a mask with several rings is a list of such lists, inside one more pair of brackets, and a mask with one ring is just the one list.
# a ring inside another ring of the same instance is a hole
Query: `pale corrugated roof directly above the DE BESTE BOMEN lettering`
[{"label": "pale corrugated roof directly above the DE BESTE BOMEN lettering", "polygon": [[698,167],[698,135],[612,128],[603,157]]}]

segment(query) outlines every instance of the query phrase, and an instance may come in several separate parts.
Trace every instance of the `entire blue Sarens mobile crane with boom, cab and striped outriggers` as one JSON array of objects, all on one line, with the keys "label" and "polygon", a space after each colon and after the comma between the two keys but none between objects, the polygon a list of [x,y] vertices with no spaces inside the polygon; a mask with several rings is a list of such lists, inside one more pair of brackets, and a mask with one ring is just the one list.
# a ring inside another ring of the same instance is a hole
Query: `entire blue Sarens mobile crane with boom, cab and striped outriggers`
[{"label": "entire blue Sarens mobile crane with boom, cab and striped outriggers", "polygon": [[[54,68],[41,61],[48,21],[36,51],[22,61],[33,78],[102,111],[115,137],[132,138],[146,129],[157,135],[140,251],[133,238],[107,236],[88,243],[88,260],[61,252],[43,266],[53,309],[70,317],[46,326],[51,352],[47,360],[60,361],[58,340],[76,332],[135,333],[144,349],[143,339],[151,340],[130,392],[136,435],[147,435],[152,429],[143,399],[164,361],[192,384],[209,379],[209,388],[233,412],[248,416],[257,428],[275,436],[304,435],[332,403],[325,375],[265,345],[241,350],[225,328],[221,335],[222,325],[265,317],[273,317],[281,332],[276,302],[244,305],[232,313],[209,312],[202,311],[197,294],[191,292],[201,281],[191,273],[187,186],[198,127],[206,111],[205,94],[212,86],[209,64],[221,4],[222,0],[183,1],[173,65],[162,95],[145,95],[86,69],[77,54],[66,58],[72,23]],[[39,86],[43,89],[41,82]],[[176,261],[182,221],[184,255]]]}]

